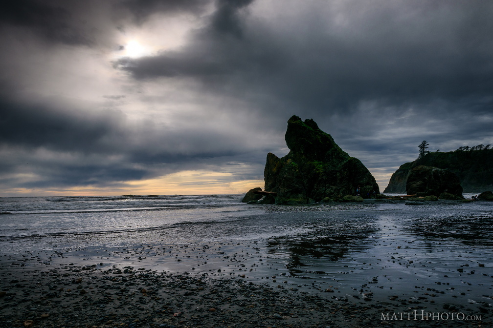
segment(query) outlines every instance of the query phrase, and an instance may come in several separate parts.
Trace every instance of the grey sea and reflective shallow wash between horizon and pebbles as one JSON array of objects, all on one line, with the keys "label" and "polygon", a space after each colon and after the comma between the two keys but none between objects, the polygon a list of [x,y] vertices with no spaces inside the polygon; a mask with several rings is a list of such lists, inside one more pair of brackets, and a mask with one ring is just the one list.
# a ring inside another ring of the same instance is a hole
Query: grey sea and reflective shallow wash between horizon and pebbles
[{"label": "grey sea and reflective shallow wash between horizon and pebbles", "polygon": [[259,206],[242,197],[0,198],[0,265],[131,266],[492,303],[493,202]]}]

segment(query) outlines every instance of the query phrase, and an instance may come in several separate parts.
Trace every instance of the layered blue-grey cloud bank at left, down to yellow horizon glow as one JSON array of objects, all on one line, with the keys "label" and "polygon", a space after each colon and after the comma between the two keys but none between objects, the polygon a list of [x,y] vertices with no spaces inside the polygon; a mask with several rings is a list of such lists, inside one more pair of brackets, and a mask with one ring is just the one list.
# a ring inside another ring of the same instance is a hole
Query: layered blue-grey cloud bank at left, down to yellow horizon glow
[{"label": "layered blue-grey cloud bank at left, down to yellow horizon glow", "polygon": [[[169,130],[148,121],[131,124],[118,111],[90,115],[0,101],[0,185],[5,186],[117,187],[115,181],[217,169],[231,161],[254,163],[251,158],[265,152],[227,131]],[[13,177],[25,173],[38,178]],[[238,174],[242,178],[244,172]]]}]

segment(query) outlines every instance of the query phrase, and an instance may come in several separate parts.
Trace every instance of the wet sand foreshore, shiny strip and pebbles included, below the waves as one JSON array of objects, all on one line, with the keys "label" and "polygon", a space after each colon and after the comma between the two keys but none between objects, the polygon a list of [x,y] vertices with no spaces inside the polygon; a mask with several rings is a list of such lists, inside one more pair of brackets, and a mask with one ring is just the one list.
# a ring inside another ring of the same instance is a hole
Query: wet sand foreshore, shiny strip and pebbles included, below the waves
[{"label": "wet sand foreshore, shiny strip and pebbles included, below the waves", "polygon": [[[406,275],[426,264],[389,253],[355,274],[358,259],[341,263],[355,262],[331,283],[293,276],[258,244],[4,255],[0,327],[492,327],[493,276],[482,264],[417,286]],[[477,288],[483,301],[469,299]]]}]

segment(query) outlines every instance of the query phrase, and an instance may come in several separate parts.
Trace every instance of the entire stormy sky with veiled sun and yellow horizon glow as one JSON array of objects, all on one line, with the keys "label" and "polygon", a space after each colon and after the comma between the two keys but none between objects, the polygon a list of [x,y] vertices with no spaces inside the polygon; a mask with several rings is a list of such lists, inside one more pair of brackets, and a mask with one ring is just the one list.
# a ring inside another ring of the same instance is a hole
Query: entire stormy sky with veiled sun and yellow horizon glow
[{"label": "entire stormy sky with veiled sun and yellow horizon glow", "polygon": [[312,118],[377,179],[493,144],[493,2],[0,4],[0,196],[263,187]]}]

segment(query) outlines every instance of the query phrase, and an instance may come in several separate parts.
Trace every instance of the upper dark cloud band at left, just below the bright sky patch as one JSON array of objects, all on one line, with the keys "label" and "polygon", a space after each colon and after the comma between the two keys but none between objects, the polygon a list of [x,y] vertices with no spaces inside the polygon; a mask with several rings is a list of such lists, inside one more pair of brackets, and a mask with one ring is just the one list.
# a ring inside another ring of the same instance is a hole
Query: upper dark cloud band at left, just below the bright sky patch
[{"label": "upper dark cloud band at left, just below the bright sky patch", "polygon": [[227,138],[228,131],[171,130],[150,121],[131,124],[119,111],[97,115],[0,102],[0,145],[44,147],[57,151],[124,154],[132,162],[175,163],[233,156],[241,140]]}]

